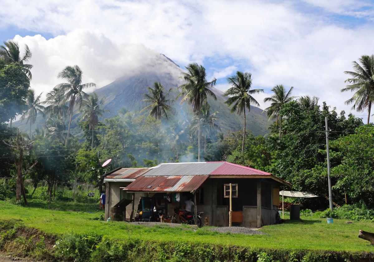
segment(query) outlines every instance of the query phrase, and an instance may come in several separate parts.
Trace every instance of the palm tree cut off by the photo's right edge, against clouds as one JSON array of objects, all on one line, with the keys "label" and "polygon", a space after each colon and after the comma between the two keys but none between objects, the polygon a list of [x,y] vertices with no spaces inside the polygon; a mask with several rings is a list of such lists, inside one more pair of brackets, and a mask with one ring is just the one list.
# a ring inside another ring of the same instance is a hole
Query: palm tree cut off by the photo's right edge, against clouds
[{"label": "palm tree cut off by the photo's right edge, against clouds", "polygon": [[352,78],[345,80],[349,83],[341,92],[355,92],[353,97],[348,99],[345,104],[352,104],[352,109],[362,112],[368,110],[368,124],[370,122],[371,105],[374,101],[374,55],[363,55],[359,59],[359,63],[353,61],[354,71],[345,71]]}]

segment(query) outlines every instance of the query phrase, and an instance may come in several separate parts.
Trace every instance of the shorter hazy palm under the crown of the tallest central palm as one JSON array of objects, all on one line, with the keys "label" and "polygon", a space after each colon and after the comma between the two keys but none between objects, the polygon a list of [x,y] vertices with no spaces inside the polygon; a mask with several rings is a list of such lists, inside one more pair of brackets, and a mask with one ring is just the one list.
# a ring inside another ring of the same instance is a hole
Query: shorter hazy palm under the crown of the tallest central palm
[{"label": "shorter hazy palm under the crown of the tallest central palm", "polygon": [[200,125],[202,125],[201,132],[204,137],[204,153],[206,153],[206,139],[210,137],[214,131],[221,131],[221,127],[215,123],[217,121],[218,112],[214,112],[210,114],[210,106],[208,104],[204,104],[200,110],[199,115],[195,115],[192,118],[191,124],[191,131],[197,135],[199,130],[199,119]]}]

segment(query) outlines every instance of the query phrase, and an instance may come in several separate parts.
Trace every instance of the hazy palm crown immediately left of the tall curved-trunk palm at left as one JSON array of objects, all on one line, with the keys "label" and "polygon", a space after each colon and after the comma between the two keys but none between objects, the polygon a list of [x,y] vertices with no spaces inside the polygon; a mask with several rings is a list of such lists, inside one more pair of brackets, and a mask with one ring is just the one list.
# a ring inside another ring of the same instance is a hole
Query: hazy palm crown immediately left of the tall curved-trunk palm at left
[{"label": "hazy palm crown immediately left of the tall curved-trunk palm at left", "polygon": [[53,88],[52,91],[47,93],[46,100],[44,104],[49,104],[45,107],[45,114],[59,116],[65,118],[69,107],[66,104],[62,104],[61,101],[64,100],[64,93],[61,92],[58,88]]}]

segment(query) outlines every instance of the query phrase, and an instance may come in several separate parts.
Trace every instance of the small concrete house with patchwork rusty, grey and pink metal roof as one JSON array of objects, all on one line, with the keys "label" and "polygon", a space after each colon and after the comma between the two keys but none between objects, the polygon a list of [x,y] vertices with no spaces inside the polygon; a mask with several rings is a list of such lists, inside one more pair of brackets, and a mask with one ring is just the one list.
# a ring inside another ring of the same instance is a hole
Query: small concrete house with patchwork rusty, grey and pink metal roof
[{"label": "small concrete house with patchwork rusty, grey and pink metal roof", "polygon": [[[209,217],[210,225],[229,225],[229,185],[232,184],[232,222],[258,228],[276,222],[279,189],[290,187],[270,173],[242,165],[220,162],[165,163],[151,168],[121,168],[108,173],[105,218],[110,208],[126,207],[126,219],[141,196],[167,199],[166,213],[183,207],[194,195],[197,211]],[[161,197],[160,197],[161,196]]]}]

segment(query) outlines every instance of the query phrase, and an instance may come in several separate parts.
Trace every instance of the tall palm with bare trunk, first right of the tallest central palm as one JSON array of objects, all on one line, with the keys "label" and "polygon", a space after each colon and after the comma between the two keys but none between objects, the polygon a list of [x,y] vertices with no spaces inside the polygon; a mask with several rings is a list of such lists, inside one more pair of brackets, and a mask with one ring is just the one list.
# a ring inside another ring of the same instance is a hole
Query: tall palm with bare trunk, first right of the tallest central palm
[{"label": "tall palm with bare trunk, first right of the tallest central palm", "polygon": [[258,102],[252,97],[253,94],[264,92],[263,89],[251,89],[252,79],[251,73],[243,73],[237,71],[232,77],[227,78],[227,82],[231,85],[226,90],[224,96],[229,98],[226,100],[226,104],[231,107],[231,112],[237,111],[239,115],[244,113],[244,128],[243,128],[243,142],[242,142],[242,155],[244,151],[244,139],[245,139],[245,109],[248,112],[251,110],[251,103],[260,106]]}]

